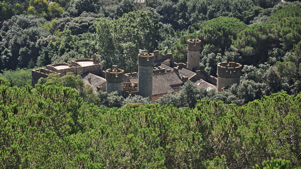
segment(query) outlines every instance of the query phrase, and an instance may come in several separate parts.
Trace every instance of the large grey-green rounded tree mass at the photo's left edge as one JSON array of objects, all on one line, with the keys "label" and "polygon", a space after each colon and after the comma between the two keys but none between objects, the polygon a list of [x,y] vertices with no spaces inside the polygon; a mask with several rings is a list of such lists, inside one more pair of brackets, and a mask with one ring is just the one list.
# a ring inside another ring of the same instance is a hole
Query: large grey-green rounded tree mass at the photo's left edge
[{"label": "large grey-green rounded tree mass at the photo's left edge", "polygon": [[50,32],[39,25],[46,20],[34,16],[19,15],[5,21],[1,32],[1,69],[25,68],[32,60],[36,63],[39,51],[51,39]]}]

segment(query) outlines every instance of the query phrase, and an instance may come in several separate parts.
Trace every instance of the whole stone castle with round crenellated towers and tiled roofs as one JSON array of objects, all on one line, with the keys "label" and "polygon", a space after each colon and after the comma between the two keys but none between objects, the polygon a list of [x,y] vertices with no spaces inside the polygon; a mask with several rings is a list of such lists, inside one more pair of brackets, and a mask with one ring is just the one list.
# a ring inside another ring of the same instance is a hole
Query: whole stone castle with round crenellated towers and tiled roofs
[{"label": "whole stone castle with round crenellated towers and tiled roofs", "polygon": [[183,84],[190,80],[197,88],[227,91],[233,84],[240,83],[242,65],[234,62],[217,64],[217,77],[200,70],[201,41],[187,41],[187,63],[173,62],[173,54],[162,55],[159,51],[138,54],[138,73],[125,73],[117,65],[112,69],[102,70],[103,66],[93,59],[76,59],[71,63],[55,63],[47,65],[46,69],[32,70],[32,85],[50,73],[60,76],[67,72],[81,75],[84,84],[91,86],[94,93],[117,91],[119,96],[129,97],[140,95],[148,97],[154,103],[159,97],[169,92],[177,92]]}]

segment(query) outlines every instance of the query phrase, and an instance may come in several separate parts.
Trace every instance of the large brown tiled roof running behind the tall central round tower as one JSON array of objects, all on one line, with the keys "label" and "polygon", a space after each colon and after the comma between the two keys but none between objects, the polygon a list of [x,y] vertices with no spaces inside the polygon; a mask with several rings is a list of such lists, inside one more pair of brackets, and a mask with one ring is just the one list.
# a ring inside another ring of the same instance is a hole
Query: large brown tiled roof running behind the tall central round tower
[{"label": "large brown tiled roof running behind the tall central round tower", "polygon": [[[138,83],[138,77],[129,78],[132,83]],[[139,85],[139,83],[138,83]],[[183,82],[176,72],[166,72],[153,75],[153,95],[173,92],[172,88],[183,85]]]}]

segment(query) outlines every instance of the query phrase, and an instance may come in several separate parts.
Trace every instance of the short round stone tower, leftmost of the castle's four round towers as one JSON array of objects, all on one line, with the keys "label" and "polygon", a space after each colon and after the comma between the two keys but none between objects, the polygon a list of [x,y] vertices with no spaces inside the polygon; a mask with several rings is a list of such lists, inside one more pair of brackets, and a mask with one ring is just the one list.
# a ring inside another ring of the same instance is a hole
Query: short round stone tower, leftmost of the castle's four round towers
[{"label": "short round stone tower, leftmost of the castle's four round towers", "polygon": [[118,96],[122,94],[124,70],[113,65],[112,69],[106,70],[107,92],[117,91]]}]

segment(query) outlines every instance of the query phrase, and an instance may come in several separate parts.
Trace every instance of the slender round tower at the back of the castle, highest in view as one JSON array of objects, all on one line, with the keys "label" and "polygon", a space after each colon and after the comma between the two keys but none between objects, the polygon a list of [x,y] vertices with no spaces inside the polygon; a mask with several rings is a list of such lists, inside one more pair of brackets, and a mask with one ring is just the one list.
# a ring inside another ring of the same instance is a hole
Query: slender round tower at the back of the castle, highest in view
[{"label": "slender round tower at the back of the castle, highest in view", "polygon": [[187,69],[196,72],[200,68],[201,40],[189,39],[187,41]]}]

